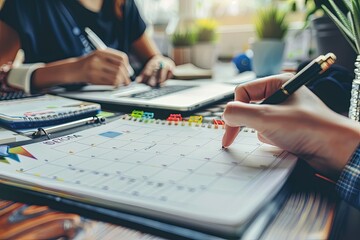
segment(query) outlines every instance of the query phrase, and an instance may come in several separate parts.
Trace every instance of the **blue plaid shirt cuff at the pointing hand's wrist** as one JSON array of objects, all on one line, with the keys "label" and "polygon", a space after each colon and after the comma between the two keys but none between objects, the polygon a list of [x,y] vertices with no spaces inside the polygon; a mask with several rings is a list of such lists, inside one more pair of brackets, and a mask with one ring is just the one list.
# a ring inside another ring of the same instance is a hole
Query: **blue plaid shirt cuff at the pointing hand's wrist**
[{"label": "blue plaid shirt cuff at the pointing hand's wrist", "polygon": [[341,172],[336,190],[342,199],[360,209],[360,145]]}]

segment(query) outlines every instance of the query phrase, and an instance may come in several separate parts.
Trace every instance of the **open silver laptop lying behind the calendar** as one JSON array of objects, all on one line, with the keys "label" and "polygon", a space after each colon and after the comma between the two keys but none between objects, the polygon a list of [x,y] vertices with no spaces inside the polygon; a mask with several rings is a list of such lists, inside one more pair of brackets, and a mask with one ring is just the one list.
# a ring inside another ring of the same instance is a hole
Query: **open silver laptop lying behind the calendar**
[{"label": "open silver laptop lying behind the calendar", "polygon": [[186,112],[229,98],[234,89],[234,85],[213,80],[168,80],[161,88],[151,88],[139,83],[116,89],[110,86],[87,85],[81,88],[81,91],[63,91],[57,94],[104,104]]}]

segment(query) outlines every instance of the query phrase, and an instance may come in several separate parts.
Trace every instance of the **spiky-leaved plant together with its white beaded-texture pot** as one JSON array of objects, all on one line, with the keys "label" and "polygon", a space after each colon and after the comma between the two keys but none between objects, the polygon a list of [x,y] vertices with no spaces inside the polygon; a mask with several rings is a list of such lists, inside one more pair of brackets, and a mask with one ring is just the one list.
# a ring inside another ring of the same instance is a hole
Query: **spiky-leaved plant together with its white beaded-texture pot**
[{"label": "spiky-leaved plant together with its white beaded-texture pot", "polygon": [[352,84],[349,117],[360,122],[360,2],[359,0],[342,0],[346,5],[347,13],[343,13],[338,2],[329,0],[334,11],[323,5],[325,12],[338,26],[350,46],[355,50],[355,79]]}]

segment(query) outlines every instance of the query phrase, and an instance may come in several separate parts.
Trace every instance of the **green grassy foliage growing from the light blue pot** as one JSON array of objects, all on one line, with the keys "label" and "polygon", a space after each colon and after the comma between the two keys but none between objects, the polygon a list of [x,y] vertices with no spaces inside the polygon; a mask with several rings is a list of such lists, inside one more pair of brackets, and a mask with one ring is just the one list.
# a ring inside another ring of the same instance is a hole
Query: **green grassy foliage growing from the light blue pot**
[{"label": "green grassy foliage growing from the light blue pot", "polygon": [[289,29],[285,12],[273,6],[260,9],[257,13],[255,29],[259,39],[282,40]]}]

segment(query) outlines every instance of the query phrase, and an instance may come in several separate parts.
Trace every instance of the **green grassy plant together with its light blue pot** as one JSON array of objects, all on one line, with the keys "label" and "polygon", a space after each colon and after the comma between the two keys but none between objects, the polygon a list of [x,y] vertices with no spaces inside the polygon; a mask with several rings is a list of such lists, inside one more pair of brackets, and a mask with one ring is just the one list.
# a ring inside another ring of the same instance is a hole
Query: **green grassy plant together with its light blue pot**
[{"label": "green grassy plant together with its light blue pot", "polygon": [[285,12],[273,6],[258,11],[255,22],[257,39],[251,44],[253,70],[258,77],[280,72],[288,28]]}]

